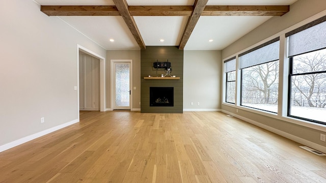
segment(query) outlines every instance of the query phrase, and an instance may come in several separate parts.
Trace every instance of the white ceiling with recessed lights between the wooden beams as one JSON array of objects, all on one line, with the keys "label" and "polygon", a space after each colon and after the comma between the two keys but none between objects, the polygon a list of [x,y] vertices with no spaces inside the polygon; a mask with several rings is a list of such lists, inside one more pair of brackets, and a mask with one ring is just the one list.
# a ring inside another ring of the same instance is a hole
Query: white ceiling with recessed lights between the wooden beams
[{"label": "white ceiling with recessed lights between the wooden beams", "polygon": [[[40,5],[108,5],[112,0],[33,0]],[[195,0],[126,0],[129,6],[192,6]],[[297,0],[208,0],[207,5],[291,5]],[[120,16],[60,16],[106,50],[139,50]],[[185,50],[222,50],[270,16],[201,16]],[[146,46],[178,46],[188,17],[134,16]],[[114,39],[110,42],[109,39]],[[160,42],[164,39],[164,42]],[[212,39],[212,42],[208,40]]]}]

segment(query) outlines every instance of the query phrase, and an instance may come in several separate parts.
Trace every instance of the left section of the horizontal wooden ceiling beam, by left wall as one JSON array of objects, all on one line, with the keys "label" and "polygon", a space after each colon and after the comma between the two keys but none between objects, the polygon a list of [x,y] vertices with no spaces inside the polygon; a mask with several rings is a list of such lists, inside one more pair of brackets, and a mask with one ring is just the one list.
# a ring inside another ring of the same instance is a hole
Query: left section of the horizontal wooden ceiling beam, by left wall
[{"label": "left section of the horizontal wooden ceiling beam, by left wall", "polygon": [[116,6],[41,6],[48,16],[120,16]]}]

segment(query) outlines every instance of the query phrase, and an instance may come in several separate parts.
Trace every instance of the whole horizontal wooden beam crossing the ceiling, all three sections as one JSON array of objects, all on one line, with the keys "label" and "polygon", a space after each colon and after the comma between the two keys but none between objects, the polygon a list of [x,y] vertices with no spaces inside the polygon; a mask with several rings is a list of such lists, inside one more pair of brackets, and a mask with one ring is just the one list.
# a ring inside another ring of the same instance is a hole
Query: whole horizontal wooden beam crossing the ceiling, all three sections
[{"label": "whole horizontal wooden beam crossing the ceiling, all three sections", "polygon": [[[193,6],[129,6],[131,16],[191,16]],[[41,6],[48,16],[120,16],[116,6]],[[282,16],[289,6],[206,6],[201,16]]]}]

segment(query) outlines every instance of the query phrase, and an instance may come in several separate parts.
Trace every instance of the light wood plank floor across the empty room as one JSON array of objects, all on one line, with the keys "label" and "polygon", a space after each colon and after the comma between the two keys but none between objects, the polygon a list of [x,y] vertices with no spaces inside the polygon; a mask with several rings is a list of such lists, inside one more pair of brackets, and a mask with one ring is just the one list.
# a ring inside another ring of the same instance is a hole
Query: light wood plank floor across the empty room
[{"label": "light wood plank floor across the empty room", "polygon": [[84,112],[0,153],[0,182],[326,182],[326,157],[221,112]]}]

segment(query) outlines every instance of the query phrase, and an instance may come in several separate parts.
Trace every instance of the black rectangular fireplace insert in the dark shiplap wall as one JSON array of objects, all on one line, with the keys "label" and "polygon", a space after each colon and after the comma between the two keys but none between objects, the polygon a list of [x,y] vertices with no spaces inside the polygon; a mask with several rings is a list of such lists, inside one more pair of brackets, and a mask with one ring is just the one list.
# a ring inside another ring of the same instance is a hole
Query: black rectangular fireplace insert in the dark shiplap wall
[{"label": "black rectangular fireplace insert in the dark shiplap wall", "polygon": [[173,106],[173,87],[149,87],[150,106]]}]

